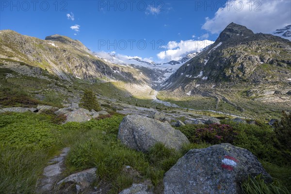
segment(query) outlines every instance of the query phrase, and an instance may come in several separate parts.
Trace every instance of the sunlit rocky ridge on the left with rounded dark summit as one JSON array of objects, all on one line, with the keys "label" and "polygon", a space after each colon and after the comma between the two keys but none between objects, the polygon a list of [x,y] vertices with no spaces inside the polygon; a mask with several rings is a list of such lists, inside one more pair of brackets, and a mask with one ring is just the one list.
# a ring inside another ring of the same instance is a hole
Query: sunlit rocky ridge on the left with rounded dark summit
[{"label": "sunlit rocky ridge on the left with rounded dark summit", "polygon": [[0,31],[0,49],[0,61],[5,67],[11,64],[39,67],[66,81],[78,78],[93,82],[97,79],[150,82],[149,74],[160,76],[160,72],[144,67],[107,63],[94,56],[80,41],[57,34],[41,40],[3,30]]}]

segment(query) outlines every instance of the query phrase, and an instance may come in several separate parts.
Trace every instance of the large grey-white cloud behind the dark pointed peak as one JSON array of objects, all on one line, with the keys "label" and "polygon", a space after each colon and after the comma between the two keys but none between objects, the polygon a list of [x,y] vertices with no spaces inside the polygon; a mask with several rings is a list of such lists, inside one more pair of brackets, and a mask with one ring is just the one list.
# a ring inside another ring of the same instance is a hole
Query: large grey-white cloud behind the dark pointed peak
[{"label": "large grey-white cloud behind the dark pointed peak", "polygon": [[272,32],[291,24],[290,7],[290,0],[231,0],[207,17],[202,29],[220,33],[234,22],[254,32]]}]

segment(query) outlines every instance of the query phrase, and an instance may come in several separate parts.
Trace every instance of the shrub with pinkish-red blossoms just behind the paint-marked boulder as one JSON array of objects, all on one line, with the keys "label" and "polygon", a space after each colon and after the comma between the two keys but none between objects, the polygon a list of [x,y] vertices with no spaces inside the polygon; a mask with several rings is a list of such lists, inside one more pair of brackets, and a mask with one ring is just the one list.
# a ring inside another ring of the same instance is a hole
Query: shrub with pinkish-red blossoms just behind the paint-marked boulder
[{"label": "shrub with pinkish-red blossoms just behind the paint-marked boulder", "polygon": [[232,143],[237,134],[229,125],[211,124],[208,128],[196,129],[191,139],[194,143]]}]

